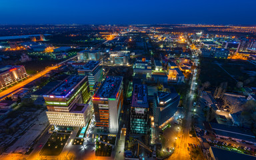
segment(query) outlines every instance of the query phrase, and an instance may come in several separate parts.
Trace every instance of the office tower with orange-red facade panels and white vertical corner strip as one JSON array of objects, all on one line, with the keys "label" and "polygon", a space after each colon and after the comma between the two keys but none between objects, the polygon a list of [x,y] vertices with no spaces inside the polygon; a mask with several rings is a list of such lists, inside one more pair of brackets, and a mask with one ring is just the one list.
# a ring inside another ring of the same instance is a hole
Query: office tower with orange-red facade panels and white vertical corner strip
[{"label": "office tower with orange-red facade panels and white vertical corner strip", "polygon": [[96,127],[117,133],[123,106],[123,77],[107,76],[93,95]]}]

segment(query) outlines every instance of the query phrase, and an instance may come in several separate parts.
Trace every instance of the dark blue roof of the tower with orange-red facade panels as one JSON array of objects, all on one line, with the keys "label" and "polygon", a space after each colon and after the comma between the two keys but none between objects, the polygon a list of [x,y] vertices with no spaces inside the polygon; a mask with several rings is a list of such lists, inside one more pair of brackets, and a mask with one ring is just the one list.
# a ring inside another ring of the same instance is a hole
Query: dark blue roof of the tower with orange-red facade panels
[{"label": "dark blue roof of the tower with orange-red facade panels", "polygon": [[118,95],[119,87],[123,81],[121,76],[107,76],[101,87],[97,90],[94,98],[116,98]]}]

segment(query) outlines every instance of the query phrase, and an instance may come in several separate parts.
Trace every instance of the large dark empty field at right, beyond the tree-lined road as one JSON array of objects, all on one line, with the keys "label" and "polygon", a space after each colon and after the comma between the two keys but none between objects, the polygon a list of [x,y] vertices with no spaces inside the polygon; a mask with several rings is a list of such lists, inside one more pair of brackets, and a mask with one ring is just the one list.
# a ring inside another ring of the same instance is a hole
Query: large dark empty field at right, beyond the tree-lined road
[{"label": "large dark empty field at right, beyond the tree-lined road", "polygon": [[249,71],[256,71],[255,65],[242,60],[231,59],[201,59],[200,61],[200,83],[209,81],[211,87],[216,87],[223,82],[227,82],[229,89],[234,89],[237,81],[242,81],[244,85],[255,86],[253,75]]}]

